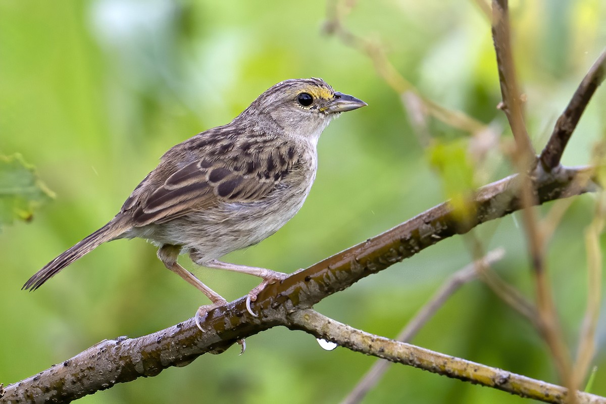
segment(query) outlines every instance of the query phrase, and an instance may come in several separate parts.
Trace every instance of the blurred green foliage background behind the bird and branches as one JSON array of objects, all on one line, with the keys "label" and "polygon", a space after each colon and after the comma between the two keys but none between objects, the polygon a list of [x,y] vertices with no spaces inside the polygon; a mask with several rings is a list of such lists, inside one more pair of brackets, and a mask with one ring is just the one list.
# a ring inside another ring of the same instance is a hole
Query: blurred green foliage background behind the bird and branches
[{"label": "blurred green foliage background behind the bird and branches", "polygon": [[[540,150],[558,114],[606,44],[602,0],[511,2],[514,47],[527,94],[528,130]],[[35,271],[101,227],[165,150],[225,124],[262,91],[317,76],[368,102],[324,131],[316,184],[301,212],[260,245],[225,260],[280,271],[304,268],[387,230],[445,198],[396,94],[373,63],[322,33],[323,1],[217,2],[0,0],[0,154],[22,153],[56,199],[30,223],[0,234],[0,382],[62,362],[102,339],[152,333],[193,316],[201,293],[165,270],[143,240],[102,245],[35,293]],[[494,128],[506,120],[490,24],[473,1],[359,1],[345,19],[384,44],[398,71],[438,104]],[[564,155],[587,164],[606,128],[598,90]],[[468,134],[432,122],[441,144]],[[505,130],[503,139],[509,139]],[[454,142],[454,143],[453,143]],[[496,148],[484,182],[511,172]],[[574,200],[550,243],[548,266],[565,338],[576,350],[585,309],[584,230],[595,197]],[[541,207],[545,214],[553,204]],[[507,255],[496,271],[533,299],[525,239],[514,214],[483,225],[485,248]],[[604,242],[602,242],[604,243]],[[441,282],[471,259],[462,237],[398,263],[316,309],[393,337]],[[187,257],[181,262],[193,268]],[[228,300],[258,282],[193,270]],[[603,300],[604,301],[604,300]],[[606,306],[606,305],[602,305]],[[606,310],[605,310],[606,311]],[[592,392],[606,395],[606,317],[598,327]],[[307,334],[276,328],[205,355],[185,368],[116,385],[82,403],[333,403],[375,359],[327,352]],[[526,376],[558,382],[534,329],[480,282],[439,310],[413,343]],[[521,403],[507,393],[394,365],[366,403]]]}]

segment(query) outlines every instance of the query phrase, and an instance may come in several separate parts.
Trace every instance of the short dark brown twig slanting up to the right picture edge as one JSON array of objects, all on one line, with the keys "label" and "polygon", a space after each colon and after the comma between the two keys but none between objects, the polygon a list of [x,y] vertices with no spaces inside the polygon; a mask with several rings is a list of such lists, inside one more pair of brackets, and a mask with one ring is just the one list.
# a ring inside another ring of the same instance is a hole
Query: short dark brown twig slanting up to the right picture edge
[{"label": "short dark brown twig slanting up to the right picture edge", "polygon": [[547,171],[558,167],[562,159],[562,153],[570,140],[570,136],[576,128],[576,125],[581,119],[581,115],[585,111],[585,107],[589,104],[591,96],[596,91],[598,86],[602,84],[606,76],[606,50],[602,51],[598,60],[591,66],[585,78],[579,84],[579,87],[574,91],[574,95],[568,102],[564,112],[558,118],[556,126],[553,128],[551,137],[541,151],[541,164]]}]

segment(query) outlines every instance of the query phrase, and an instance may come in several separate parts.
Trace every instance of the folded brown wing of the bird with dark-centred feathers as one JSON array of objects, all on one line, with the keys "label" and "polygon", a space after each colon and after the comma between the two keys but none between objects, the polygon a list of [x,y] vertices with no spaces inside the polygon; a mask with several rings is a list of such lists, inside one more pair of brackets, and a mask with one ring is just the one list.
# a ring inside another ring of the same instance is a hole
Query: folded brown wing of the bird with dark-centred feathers
[{"label": "folded brown wing of the bird with dark-centred feathers", "polygon": [[161,162],[133,191],[122,211],[132,210],[133,226],[141,227],[221,202],[261,200],[291,170],[296,162],[293,154],[294,149],[283,144],[259,154],[207,155],[175,170],[167,170]]}]

